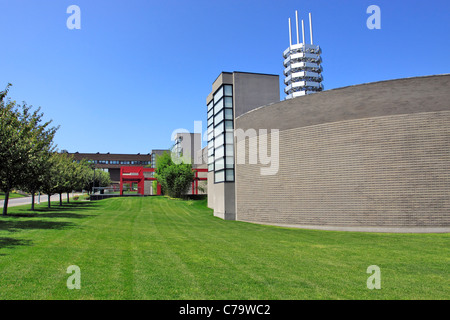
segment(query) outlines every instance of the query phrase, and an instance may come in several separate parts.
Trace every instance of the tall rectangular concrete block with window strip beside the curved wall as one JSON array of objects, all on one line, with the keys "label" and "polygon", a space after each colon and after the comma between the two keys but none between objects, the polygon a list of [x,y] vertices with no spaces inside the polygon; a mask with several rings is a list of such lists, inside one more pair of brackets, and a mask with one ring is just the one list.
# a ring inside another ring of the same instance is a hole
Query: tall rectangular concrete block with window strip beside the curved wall
[{"label": "tall rectangular concrete block with window strip beside the curved wall", "polygon": [[236,218],[235,119],[280,100],[279,77],[271,74],[222,72],[206,99],[208,112],[208,206],[224,219]]}]

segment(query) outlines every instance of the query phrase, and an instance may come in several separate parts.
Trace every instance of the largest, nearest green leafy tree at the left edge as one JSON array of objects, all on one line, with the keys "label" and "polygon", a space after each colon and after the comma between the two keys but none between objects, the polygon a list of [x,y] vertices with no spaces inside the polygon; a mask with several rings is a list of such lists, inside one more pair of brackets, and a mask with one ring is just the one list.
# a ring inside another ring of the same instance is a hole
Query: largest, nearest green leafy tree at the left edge
[{"label": "largest, nearest green leafy tree at the left edge", "polygon": [[6,99],[11,84],[0,92],[0,188],[5,192],[3,215],[7,215],[9,193],[30,179],[30,166],[50,150],[58,128],[42,123],[40,108],[31,112],[25,103]]}]

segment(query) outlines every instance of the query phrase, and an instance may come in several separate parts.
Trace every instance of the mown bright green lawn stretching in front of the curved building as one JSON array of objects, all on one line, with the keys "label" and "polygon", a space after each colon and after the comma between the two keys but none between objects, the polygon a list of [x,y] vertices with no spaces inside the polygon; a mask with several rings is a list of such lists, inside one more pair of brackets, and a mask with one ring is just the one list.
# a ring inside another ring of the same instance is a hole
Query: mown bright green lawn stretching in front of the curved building
[{"label": "mown bright green lawn stretching in front of the curved building", "polygon": [[[0,299],[449,299],[448,234],[223,221],[205,201],[73,202],[0,217]],[[81,268],[81,289],[66,270]],[[381,290],[369,290],[370,265]]]}]

